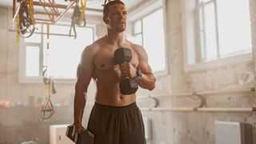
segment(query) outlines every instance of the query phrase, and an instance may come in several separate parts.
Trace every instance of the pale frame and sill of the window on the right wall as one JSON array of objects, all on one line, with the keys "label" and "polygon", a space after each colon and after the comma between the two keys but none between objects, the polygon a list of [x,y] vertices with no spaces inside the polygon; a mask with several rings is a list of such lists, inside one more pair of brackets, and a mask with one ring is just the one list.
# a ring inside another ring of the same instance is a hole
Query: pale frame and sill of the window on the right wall
[{"label": "pale frame and sill of the window on the right wall", "polygon": [[[221,57],[220,48],[218,42],[218,12],[217,12],[217,0],[210,0],[214,2],[214,13],[216,22],[216,41],[218,57],[214,60],[202,62],[200,61],[201,47],[199,38],[199,13],[198,13],[198,0],[194,2],[187,2],[182,0],[182,27],[183,27],[183,56],[184,56],[184,70],[186,72],[194,70],[209,70],[212,68],[218,68],[222,66],[234,65],[242,62],[252,62],[252,53],[232,55],[230,57]],[[189,4],[188,4],[189,3]],[[207,3],[207,2],[206,2]],[[193,14],[192,14],[193,13]],[[251,25],[250,25],[251,26]],[[251,34],[251,38],[253,35]],[[194,41],[194,42],[193,42]],[[205,43],[205,42],[204,42]],[[252,42],[253,45],[253,42]],[[190,52],[190,53],[189,53]]]}]

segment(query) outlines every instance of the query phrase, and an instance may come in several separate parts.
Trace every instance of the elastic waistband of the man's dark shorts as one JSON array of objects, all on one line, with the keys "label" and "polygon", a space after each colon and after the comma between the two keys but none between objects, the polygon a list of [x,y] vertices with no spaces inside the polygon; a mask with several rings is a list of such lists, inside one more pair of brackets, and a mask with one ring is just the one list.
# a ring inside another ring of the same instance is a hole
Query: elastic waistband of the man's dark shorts
[{"label": "elastic waistband of the man's dark shorts", "polygon": [[110,112],[118,112],[118,111],[123,112],[126,110],[132,110],[134,108],[137,108],[137,104],[136,102],[133,102],[127,106],[107,106],[107,105],[102,105],[100,103],[94,102],[94,107],[97,109],[106,110]]}]

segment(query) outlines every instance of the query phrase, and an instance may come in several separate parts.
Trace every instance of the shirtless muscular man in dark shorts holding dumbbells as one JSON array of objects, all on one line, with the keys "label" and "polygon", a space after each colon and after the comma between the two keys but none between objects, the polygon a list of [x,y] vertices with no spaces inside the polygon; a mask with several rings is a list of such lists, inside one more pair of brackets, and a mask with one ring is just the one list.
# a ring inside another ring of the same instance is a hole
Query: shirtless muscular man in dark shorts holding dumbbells
[{"label": "shirtless muscular man in dark shorts holding dumbbells", "polygon": [[[94,144],[145,144],[142,114],[136,105],[136,94],[121,94],[119,82],[128,76],[138,79],[138,86],[153,90],[156,79],[148,64],[146,51],[125,38],[125,4],[121,1],[108,2],[103,10],[103,22],[107,28],[106,36],[86,47],[78,65],[74,97],[75,133],[84,129],[82,114],[86,93],[90,79],[94,78],[97,93],[87,126],[95,135]],[[120,47],[129,48],[132,59],[116,65],[114,51]],[[138,75],[138,70],[142,71],[142,76]]]}]

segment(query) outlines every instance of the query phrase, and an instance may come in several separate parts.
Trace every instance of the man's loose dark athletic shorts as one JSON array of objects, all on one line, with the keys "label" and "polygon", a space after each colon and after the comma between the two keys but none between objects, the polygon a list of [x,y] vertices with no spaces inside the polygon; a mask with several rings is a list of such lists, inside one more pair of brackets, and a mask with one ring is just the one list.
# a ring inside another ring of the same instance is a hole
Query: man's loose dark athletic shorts
[{"label": "man's loose dark athletic shorts", "polygon": [[136,103],[104,106],[95,102],[87,129],[94,144],[146,144],[142,114]]}]

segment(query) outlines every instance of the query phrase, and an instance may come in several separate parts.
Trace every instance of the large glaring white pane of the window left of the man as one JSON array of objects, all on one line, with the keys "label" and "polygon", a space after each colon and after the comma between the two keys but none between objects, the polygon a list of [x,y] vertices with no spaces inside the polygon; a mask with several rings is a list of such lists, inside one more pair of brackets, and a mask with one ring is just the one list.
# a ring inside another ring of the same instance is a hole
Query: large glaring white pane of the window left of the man
[{"label": "large glaring white pane of the window left of the man", "polygon": [[[65,34],[69,29],[69,26],[53,26],[50,30],[53,33]],[[77,27],[76,30],[78,33],[76,39],[58,35],[50,36],[49,57],[45,64],[49,68],[49,74],[54,78],[76,78],[82,50],[93,42],[93,30],[91,28]],[[46,50],[46,35],[44,40]]]}]

